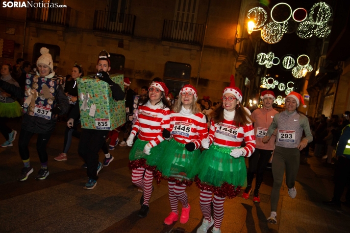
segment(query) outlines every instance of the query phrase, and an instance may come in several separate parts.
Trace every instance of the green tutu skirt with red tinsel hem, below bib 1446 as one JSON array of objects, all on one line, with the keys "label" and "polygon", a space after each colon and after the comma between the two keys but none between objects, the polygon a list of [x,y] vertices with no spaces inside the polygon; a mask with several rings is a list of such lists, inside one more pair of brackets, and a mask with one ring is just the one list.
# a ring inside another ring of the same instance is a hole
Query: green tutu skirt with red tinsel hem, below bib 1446
[{"label": "green tutu skirt with red tinsel hem, below bib 1446", "polygon": [[244,157],[230,156],[236,147],[211,145],[204,150],[188,174],[195,177],[196,185],[220,197],[236,197],[242,186],[247,186],[247,167]]}]

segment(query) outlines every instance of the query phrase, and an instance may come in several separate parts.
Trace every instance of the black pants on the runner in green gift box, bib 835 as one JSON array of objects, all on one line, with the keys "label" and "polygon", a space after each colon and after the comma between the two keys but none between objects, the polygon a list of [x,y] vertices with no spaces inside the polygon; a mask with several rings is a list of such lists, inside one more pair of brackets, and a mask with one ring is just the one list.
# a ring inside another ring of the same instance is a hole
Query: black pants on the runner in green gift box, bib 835
[{"label": "black pants on the runner in green gift box, bib 835", "polygon": [[107,130],[82,129],[78,153],[87,164],[86,173],[89,179],[98,180],[99,151],[106,141]]}]

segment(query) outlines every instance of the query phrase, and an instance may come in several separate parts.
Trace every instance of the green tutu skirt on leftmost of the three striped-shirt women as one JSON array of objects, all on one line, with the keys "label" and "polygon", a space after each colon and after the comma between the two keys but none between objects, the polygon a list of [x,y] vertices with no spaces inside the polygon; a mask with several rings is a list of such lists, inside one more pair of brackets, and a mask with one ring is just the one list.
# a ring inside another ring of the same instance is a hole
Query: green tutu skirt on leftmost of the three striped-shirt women
[{"label": "green tutu skirt on leftmost of the three striped-shirt women", "polygon": [[154,171],[157,163],[160,161],[164,148],[168,144],[167,140],[162,141],[157,146],[154,146],[150,149],[150,154],[146,155],[144,153],[145,145],[149,141],[143,141],[137,139],[135,144],[132,146],[129,153],[129,168],[130,170],[136,169],[138,167],[145,167],[150,171]]}]

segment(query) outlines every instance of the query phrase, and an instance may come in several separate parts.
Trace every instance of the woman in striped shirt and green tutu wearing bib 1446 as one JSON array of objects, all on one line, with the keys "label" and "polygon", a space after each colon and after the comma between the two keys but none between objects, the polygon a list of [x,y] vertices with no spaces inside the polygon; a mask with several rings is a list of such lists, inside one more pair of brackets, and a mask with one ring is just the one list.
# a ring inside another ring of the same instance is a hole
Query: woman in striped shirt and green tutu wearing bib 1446
[{"label": "woman in striped shirt and green tutu wearing bib 1446", "polygon": [[[206,233],[213,224],[212,232],[221,233],[225,197],[236,197],[241,191],[247,179],[244,158],[249,157],[255,149],[252,120],[241,104],[242,92],[235,87],[233,75],[222,100],[222,108],[216,108],[212,114],[208,138],[201,141],[202,147],[209,150],[202,152],[189,174],[198,174],[195,181],[200,188],[200,210],[204,215],[197,233]],[[243,139],[246,146],[241,148]],[[214,219],[211,217],[211,202]]]}]

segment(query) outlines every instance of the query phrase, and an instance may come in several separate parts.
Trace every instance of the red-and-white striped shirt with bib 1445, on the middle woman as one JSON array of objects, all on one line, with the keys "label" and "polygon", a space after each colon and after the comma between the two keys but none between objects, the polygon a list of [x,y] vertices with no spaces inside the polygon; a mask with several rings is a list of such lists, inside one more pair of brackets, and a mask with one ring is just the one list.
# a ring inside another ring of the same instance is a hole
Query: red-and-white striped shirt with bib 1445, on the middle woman
[{"label": "red-and-white striped shirt with bib 1445, on the middle woman", "polygon": [[205,116],[202,113],[184,116],[172,111],[170,116],[170,131],[175,141],[182,144],[194,142],[196,149],[200,142],[208,136]]}]

